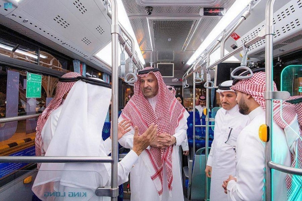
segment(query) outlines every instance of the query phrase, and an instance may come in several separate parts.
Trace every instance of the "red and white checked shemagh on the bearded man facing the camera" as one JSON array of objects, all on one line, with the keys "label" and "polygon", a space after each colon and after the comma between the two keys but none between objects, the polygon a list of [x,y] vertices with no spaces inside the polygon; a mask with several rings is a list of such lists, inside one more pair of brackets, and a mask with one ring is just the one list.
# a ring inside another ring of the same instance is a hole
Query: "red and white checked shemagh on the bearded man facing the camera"
[{"label": "red and white checked shemagh on the bearded man facing the camera", "polygon": [[[146,67],[146,69],[153,69]],[[143,95],[140,86],[140,77],[146,77],[149,73],[154,73],[159,85],[159,96],[155,107],[155,112],[149,104],[148,99]],[[124,119],[130,120],[133,126],[138,127],[138,135],[142,135],[146,129],[152,124],[158,125],[159,133],[175,134],[175,129],[179,121],[183,118],[185,108],[175,98],[174,93],[168,89],[164,83],[163,77],[159,71],[149,72],[137,76],[137,81],[134,83],[134,95],[131,97],[125,106],[121,116]],[[172,152],[173,145],[168,148],[150,147],[150,150],[145,149],[150,162],[155,170],[155,174],[150,175],[155,183],[159,195],[163,193],[163,164],[165,162],[167,168],[168,188],[172,190]],[[149,167],[152,168],[152,167]],[[157,183],[161,183],[161,186]]]}]

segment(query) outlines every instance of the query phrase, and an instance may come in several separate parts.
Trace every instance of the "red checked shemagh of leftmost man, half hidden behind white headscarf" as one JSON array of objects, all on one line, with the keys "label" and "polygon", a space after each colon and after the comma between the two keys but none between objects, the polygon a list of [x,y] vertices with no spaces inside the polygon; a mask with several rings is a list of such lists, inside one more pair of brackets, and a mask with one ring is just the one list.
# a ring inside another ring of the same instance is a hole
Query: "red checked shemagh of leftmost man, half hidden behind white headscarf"
[{"label": "red checked shemagh of leftmost man, half hidden behind white headscarf", "polygon": [[[64,78],[70,78],[70,77],[78,77],[81,76],[77,72],[68,72],[62,77]],[[48,106],[45,108],[43,113],[38,118],[37,128],[36,128],[36,138],[35,138],[35,148],[36,148],[36,156],[44,156],[45,151],[43,150],[43,140],[41,137],[42,129],[49,117],[49,115],[57,109],[63,99],[63,96],[66,92],[70,90],[70,88],[73,86],[74,82],[58,82],[55,96],[52,98]],[[38,163],[38,168],[40,168],[41,163]]]}]

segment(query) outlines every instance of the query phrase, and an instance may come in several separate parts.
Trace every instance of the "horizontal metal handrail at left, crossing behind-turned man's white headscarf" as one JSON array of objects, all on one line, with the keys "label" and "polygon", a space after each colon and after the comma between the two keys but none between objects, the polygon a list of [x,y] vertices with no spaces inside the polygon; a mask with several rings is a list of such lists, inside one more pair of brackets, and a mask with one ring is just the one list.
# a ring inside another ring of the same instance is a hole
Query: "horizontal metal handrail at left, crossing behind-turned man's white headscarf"
[{"label": "horizontal metal handrail at left, crossing behind-turned man's white headscarf", "polygon": [[10,163],[113,163],[111,156],[0,156],[0,162]]}]

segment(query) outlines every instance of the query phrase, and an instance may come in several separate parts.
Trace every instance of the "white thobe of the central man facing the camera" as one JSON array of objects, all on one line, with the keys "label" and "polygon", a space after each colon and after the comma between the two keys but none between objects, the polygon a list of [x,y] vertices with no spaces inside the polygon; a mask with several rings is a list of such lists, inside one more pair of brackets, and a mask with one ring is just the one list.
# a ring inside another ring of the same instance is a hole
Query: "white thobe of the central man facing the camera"
[{"label": "white thobe of the central man facing the camera", "polygon": [[[155,111],[155,106],[157,103],[158,95],[153,98],[148,98],[150,105]],[[181,179],[181,167],[180,167],[180,158],[179,158],[179,146],[184,141],[187,135],[187,118],[189,114],[185,112],[184,117],[180,120],[175,134],[173,135],[176,138],[176,146],[173,146],[172,153],[172,172],[173,172],[173,182],[172,182],[172,192],[168,189],[167,181],[167,169],[166,164],[164,166],[164,180],[163,180],[163,201],[178,201],[184,200],[182,179]],[[119,122],[123,118],[119,118]],[[131,126],[131,131],[126,133],[120,140],[119,143],[125,148],[133,147],[133,136],[134,128]],[[137,163],[131,169],[130,172],[130,188],[131,188],[131,201],[158,201],[160,200],[159,193],[155,187],[153,180],[150,178],[148,173],[148,167],[145,165],[144,160],[150,160],[147,156],[147,153],[143,151],[138,157]]]}]

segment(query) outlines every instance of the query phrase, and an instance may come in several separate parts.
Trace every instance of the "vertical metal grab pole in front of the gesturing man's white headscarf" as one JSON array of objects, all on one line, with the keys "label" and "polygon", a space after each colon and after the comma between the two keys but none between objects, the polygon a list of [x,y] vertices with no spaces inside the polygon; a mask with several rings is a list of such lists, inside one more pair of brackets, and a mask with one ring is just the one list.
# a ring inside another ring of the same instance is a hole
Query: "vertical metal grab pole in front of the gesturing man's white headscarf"
[{"label": "vertical metal grab pole in front of the gesturing man's white headscarf", "polygon": [[[112,122],[112,159],[111,163],[111,188],[117,191],[111,197],[111,200],[117,200],[118,186],[117,186],[117,163],[118,163],[118,152],[117,152],[117,117],[118,117],[118,16],[117,16],[117,3],[116,0],[110,0],[112,6],[112,19],[111,19],[111,36],[112,36],[112,105],[111,105],[111,122]],[[133,53],[132,53],[133,54]]]}]

